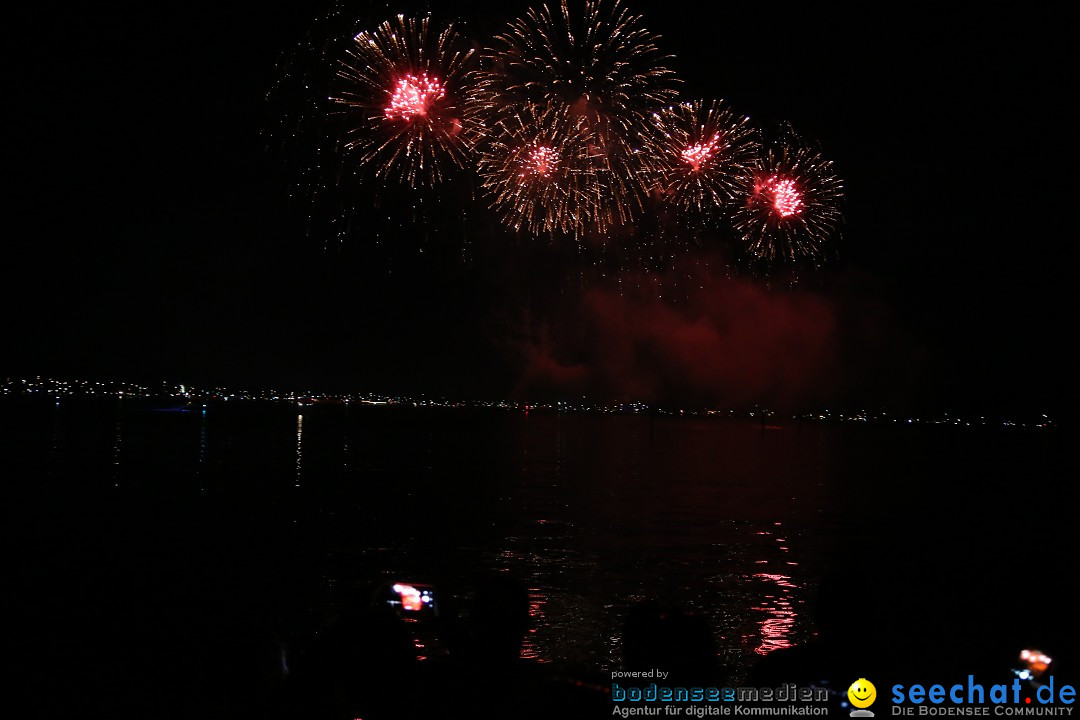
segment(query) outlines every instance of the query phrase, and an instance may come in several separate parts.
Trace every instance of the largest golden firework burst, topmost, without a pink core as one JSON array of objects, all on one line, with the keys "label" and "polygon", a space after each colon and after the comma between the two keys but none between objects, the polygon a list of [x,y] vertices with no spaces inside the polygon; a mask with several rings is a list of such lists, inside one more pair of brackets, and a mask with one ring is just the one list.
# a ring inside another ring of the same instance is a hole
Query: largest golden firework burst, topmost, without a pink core
[{"label": "largest golden firework burst, topmost, without a pink core", "polygon": [[639,16],[620,0],[586,0],[581,10],[571,12],[563,0],[511,23],[482,52],[473,100],[496,134],[519,125],[515,117],[526,108],[545,126],[583,134],[589,164],[576,172],[593,188],[549,207],[561,217],[545,222],[576,234],[590,227],[604,232],[637,215],[647,187],[648,119],[675,96],[657,37],[640,27]]}]

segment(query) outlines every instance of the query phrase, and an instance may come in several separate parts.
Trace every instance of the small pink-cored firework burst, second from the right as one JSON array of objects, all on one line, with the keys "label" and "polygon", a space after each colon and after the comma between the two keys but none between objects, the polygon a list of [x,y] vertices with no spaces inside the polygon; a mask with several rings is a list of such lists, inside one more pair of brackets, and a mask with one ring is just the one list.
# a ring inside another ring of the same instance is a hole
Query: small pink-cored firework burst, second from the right
[{"label": "small pink-cored firework burst, second from the right", "polygon": [[745,117],[697,100],[658,113],[649,152],[662,195],[683,210],[707,214],[745,192],[757,158]]}]

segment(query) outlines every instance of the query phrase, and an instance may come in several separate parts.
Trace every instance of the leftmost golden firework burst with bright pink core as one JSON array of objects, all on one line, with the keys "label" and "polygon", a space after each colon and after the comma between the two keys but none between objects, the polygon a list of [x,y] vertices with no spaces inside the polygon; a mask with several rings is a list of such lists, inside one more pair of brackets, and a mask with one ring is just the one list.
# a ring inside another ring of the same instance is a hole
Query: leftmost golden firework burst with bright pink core
[{"label": "leftmost golden firework burst with bright pink core", "polygon": [[343,106],[345,148],[378,178],[435,185],[468,159],[464,109],[472,50],[453,26],[399,15],[353,38],[332,100]]}]

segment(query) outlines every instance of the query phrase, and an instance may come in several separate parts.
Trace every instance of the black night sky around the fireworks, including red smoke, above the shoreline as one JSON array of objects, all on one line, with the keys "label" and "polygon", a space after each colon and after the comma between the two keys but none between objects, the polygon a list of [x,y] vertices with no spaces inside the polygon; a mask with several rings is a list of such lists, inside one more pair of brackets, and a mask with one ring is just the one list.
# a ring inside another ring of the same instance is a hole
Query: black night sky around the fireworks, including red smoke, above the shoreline
[{"label": "black night sky around the fireworks, including red smoke, above the shoreline", "polygon": [[[1063,17],[630,4],[685,97],[788,121],[835,161],[842,240],[794,289],[718,262],[680,269],[677,300],[632,273],[568,280],[542,243],[486,236],[480,204],[457,234],[329,241],[262,132],[321,3],[41,8],[6,31],[0,372],[1069,409]],[[433,10],[481,35],[525,4],[454,6]]]}]

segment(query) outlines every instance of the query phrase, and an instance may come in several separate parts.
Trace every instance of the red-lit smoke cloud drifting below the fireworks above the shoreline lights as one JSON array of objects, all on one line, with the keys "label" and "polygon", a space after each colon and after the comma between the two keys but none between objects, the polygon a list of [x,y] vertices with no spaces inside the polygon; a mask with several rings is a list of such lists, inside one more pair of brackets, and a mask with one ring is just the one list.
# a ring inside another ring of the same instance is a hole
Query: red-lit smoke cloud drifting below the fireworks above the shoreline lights
[{"label": "red-lit smoke cloud drifting below the fireworks above the shoreline lights", "polygon": [[645,402],[813,402],[838,380],[837,336],[834,304],[809,291],[724,279],[671,302],[595,287],[519,343],[518,390]]}]

